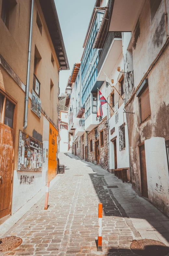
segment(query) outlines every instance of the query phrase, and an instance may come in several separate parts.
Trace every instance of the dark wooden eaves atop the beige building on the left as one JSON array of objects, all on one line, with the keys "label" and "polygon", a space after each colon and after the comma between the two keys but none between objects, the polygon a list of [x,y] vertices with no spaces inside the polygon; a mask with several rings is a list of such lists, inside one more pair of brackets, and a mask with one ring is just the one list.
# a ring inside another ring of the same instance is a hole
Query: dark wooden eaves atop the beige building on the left
[{"label": "dark wooden eaves atop the beige building on the left", "polygon": [[59,61],[60,70],[69,70],[68,58],[63,42],[55,2],[54,0],[39,0],[39,3]]}]

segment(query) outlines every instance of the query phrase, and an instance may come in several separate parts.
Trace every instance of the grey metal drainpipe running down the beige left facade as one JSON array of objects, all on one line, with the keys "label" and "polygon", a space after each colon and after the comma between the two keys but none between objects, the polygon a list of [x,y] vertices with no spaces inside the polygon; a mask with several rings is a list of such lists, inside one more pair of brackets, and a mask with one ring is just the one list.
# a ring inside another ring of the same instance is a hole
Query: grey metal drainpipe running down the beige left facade
[{"label": "grey metal drainpipe running down the beige left facade", "polygon": [[29,100],[30,66],[31,66],[32,20],[33,20],[33,0],[31,0],[31,4],[30,4],[28,59],[27,59],[27,70],[26,70],[25,109],[24,109],[23,130],[25,130],[27,128],[27,124],[28,124],[28,100]]}]

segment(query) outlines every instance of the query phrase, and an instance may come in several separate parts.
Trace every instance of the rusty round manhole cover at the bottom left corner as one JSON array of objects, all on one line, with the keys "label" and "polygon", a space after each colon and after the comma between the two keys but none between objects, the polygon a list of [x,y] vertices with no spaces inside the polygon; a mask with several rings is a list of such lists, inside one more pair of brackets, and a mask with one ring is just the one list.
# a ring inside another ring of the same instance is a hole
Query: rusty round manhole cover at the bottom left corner
[{"label": "rusty round manhole cover at the bottom left corner", "polygon": [[22,239],[16,236],[7,236],[0,239],[0,252],[10,251],[17,248],[22,243]]}]

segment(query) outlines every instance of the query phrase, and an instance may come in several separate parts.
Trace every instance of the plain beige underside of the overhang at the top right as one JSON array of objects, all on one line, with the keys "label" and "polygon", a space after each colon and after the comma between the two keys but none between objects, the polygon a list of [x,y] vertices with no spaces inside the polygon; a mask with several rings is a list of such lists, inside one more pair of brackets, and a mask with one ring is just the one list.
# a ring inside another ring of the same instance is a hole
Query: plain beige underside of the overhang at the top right
[{"label": "plain beige underside of the overhang at the top right", "polygon": [[132,31],[145,0],[111,0],[109,31]]}]

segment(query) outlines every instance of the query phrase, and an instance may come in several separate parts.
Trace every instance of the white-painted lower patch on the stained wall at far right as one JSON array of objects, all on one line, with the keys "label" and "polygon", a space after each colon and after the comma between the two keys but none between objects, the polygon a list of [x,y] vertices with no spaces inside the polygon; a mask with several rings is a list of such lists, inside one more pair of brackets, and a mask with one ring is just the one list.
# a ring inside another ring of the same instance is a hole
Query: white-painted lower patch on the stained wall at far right
[{"label": "white-painted lower patch on the stained wall at far right", "polygon": [[169,217],[169,170],[164,138],[145,140],[145,153],[149,200]]}]

